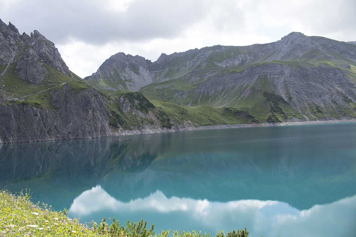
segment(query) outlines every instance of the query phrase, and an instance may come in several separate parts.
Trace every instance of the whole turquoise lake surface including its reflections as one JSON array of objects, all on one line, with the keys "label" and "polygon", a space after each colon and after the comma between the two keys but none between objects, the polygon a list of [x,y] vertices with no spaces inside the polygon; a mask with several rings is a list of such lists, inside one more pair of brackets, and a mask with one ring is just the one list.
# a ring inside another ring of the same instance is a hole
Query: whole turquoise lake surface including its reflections
[{"label": "whole turquoise lake surface including its reflections", "polygon": [[356,123],[0,146],[0,186],[82,222],[249,236],[355,236]]}]

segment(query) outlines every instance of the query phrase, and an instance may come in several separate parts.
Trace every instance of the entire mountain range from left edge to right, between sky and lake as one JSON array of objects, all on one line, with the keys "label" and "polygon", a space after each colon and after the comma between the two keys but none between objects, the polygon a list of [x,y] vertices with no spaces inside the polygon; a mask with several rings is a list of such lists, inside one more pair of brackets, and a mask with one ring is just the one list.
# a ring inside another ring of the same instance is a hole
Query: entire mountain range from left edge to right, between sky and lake
[{"label": "entire mountain range from left edge to right, between sky and lake", "polygon": [[69,70],[38,31],[0,20],[0,143],[356,117],[356,44],[292,32],[280,41],[117,53]]}]

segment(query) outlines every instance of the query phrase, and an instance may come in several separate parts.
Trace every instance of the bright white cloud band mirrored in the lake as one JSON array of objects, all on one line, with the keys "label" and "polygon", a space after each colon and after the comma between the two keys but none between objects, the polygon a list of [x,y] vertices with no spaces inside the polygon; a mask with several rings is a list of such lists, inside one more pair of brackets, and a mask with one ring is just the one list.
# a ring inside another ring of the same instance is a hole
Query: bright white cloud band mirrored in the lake
[{"label": "bright white cloud band mirrored in the lake", "polygon": [[172,211],[187,211],[194,216],[212,215],[218,210],[240,210],[242,212],[253,209],[261,209],[264,206],[277,205],[277,201],[259,201],[259,200],[239,200],[226,203],[210,202],[204,200],[194,200],[189,197],[167,198],[161,191],[145,198],[137,198],[129,202],[122,202],[111,197],[100,185],[84,191],[74,199],[69,211],[77,215],[89,215],[100,210],[120,210],[137,211],[150,210],[167,213]]}]

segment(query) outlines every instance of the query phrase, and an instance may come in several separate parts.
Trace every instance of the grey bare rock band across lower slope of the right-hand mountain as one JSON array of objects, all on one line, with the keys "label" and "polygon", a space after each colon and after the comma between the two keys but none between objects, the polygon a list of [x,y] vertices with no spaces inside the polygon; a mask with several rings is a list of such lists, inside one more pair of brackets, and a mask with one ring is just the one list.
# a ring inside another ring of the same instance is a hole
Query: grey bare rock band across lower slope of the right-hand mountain
[{"label": "grey bare rock band across lower slope of the right-hand mountain", "polygon": [[239,107],[241,101],[263,86],[281,95],[298,111],[305,104],[346,105],[345,97],[356,101],[356,83],[339,68],[298,68],[278,63],[250,67],[241,73],[214,75],[185,97],[191,98],[192,106]]}]

